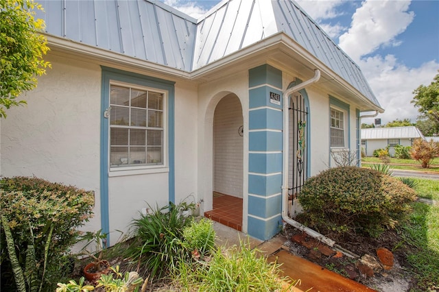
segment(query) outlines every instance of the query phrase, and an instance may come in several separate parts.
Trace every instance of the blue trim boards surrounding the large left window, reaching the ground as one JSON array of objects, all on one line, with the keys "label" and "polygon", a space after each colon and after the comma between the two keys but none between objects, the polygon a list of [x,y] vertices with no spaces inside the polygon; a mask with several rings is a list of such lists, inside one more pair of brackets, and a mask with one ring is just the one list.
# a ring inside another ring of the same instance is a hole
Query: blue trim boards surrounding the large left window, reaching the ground
[{"label": "blue trim boards surrounding the large left window, reaching the ground", "polygon": [[128,71],[101,66],[102,68],[102,97],[101,97],[101,165],[100,165],[100,199],[101,199],[101,228],[107,234],[107,244],[110,243],[110,215],[108,214],[108,119],[104,117],[104,112],[110,105],[110,81],[126,82],[150,88],[167,90],[167,147],[169,167],[169,201],[175,202],[175,167],[174,167],[174,111],[175,111],[175,82],[162,80],[156,77],[145,76]]}]

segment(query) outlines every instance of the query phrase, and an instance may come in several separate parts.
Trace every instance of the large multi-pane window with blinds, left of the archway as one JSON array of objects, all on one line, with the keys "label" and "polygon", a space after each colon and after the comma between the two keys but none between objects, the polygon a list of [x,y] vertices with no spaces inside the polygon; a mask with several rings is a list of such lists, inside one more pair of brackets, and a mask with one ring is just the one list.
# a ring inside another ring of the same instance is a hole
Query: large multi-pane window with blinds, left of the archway
[{"label": "large multi-pane window with blinds, left of the archway", "polygon": [[110,85],[110,167],[163,165],[163,99]]}]

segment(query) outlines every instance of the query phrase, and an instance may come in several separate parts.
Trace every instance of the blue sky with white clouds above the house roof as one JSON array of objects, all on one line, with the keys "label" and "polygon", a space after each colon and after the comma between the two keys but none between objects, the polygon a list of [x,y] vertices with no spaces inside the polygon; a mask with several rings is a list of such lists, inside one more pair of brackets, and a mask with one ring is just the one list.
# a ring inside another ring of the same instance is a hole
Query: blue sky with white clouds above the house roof
[{"label": "blue sky with white clouds above the house roof", "polygon": [[[195,18],[220,1],[162,0]],[[242,0],[250,1],[250,0]],[[363,71],[384,114],[416,121],[413,90],[428,85],[439,70],[437,0],[298,0],[300,6]],[[364,119],[372,123],[373,119]]]}]

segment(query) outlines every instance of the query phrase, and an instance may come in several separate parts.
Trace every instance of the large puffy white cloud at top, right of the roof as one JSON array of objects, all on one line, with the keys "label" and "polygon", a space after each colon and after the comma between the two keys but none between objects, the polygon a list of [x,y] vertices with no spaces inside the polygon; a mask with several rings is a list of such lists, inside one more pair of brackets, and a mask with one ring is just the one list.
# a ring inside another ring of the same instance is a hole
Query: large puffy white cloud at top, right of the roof
[{"label": "large puffy white cloud at top, right of the roof", "polygon": [[348,32],[340,36],[340,47],[356,62],[382,45],[398,42],[396,36],[414,19],[408,12],[410,1],[366,0],[352,16]]}]

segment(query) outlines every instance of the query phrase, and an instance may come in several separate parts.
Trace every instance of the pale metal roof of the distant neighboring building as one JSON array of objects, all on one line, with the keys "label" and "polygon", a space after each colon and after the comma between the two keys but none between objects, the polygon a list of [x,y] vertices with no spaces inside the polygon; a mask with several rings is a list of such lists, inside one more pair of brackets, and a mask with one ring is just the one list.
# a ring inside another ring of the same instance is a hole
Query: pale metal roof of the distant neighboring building
[{"label": "pale metal roof of the distant neighboring building", "polygon": [[423,138],[421,133],[415,126],[407,127],[375,127],[370,129],[361,129],[362,140],[374,139],[404,139],[404,138]]}]

